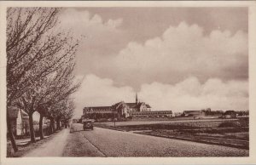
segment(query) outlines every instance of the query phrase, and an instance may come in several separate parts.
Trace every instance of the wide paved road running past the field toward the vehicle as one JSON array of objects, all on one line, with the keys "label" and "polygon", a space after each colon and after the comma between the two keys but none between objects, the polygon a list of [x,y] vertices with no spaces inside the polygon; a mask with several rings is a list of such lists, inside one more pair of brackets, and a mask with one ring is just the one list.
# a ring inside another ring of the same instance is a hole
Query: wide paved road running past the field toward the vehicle
[{"label": "wide paved road running past the field toward the vehicle", "polygon": [[[231,147],[132,134],[105,128],[81,131],[81,124],[73,124],[73,128],[77,132],[71,136],[79,139],[76,142],[78,145],[73,144],[73,147],[79,148],[79,145],[84,143],[86,153],[93,153],[91,156],[248,156],[249,154],[247,150]],[[90,155],[82,154],[81,156]]]}]

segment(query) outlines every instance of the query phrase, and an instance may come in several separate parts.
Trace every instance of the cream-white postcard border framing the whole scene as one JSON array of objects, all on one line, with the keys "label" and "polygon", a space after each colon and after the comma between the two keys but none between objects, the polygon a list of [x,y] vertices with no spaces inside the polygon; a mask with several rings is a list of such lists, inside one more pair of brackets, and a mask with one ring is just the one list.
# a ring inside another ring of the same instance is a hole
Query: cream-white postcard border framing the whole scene
[{"label": "cream-white postcard border framing the whole scene", "polygon": [[[7,7],[247,7],[249,20],[249,110],[250,150],[248,157],[6,157],[6,54]],[[3,164],[251,164],[256,163],[256,2],[255,1],[6,1],[0,2],[0,107],[1,163]]]}]

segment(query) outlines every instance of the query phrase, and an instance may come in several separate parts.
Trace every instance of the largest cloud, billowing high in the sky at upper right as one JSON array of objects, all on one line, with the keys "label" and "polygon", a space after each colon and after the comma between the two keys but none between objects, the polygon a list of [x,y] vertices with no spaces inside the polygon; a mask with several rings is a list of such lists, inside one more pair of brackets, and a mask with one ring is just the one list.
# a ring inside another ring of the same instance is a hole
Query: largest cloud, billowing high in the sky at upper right
[{"label": "largest cloud, billowing high in the sky at upper right", "polygon": [[[114,63],[132,81],[177,83],[184,77],[196,76],[206,81],[211,77],[225,80],[247,79],[247,33],[211,31],[196,24],[181,22],[170,26],[162,36],[144,43],[131,42],[117,55]],[[131,72],[139,74],[132,74]]]}]

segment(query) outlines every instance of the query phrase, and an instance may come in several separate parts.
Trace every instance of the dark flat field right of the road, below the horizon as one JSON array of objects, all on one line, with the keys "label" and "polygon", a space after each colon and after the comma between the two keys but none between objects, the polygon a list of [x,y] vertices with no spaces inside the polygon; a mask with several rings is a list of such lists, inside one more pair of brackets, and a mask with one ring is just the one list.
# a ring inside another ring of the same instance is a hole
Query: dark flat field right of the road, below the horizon
[{"label": "dark flat field right of the road, below the horizon", "polygon": [[97,127],[249,149],[248,118],[95,123]]}]

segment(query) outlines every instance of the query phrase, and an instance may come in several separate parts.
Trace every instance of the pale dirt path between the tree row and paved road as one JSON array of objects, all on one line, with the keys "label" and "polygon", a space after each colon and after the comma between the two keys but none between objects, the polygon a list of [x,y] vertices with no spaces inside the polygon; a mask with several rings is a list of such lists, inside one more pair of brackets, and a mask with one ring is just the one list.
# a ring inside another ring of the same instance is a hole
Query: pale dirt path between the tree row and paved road
[{"label": "pale dirt path between the tree row and paved road", "polygon": [[55,135],[54,139],[39,146],[38,148],[29,151],[25,157],[40,157],[40,156],[62,156],[64,147],[67,143],[67,135],[69,129],[62,129],[61,132]]}]

